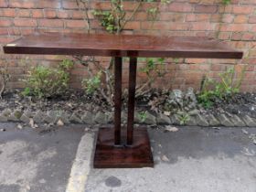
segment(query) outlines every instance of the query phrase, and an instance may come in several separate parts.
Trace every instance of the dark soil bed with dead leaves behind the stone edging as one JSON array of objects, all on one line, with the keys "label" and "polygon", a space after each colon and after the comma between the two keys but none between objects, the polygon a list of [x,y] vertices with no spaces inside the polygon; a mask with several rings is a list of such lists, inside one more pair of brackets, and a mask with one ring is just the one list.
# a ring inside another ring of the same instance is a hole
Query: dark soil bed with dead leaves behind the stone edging
[{"label": "dark soil bed with dead leaves behind the stone edging", "polygon": [[[163,91],[153,90],[144,96],[136,99],[137,111],[155,111],[150,106],[150,102],[157,98],[161,103],[157,105],[158,112],[164,112],[166,93]],[[126,109],[126,99],[123,99],[123,109]],[[49,99],[36,99],[33,97],[24,97],[20,90],[6,91],[3,99],[0,101],[0,111],[6,108],[11,110],[30,110],[37,112],[45,111],[66,111],[66,112],[112,112],[113,107],[109,105],[100,95],[87,96],[83,91],[72,90],[65,94]],[[228,112],[230,114],[250,115],[256,118],[256,94],[255,93],[238,93],[229,100],[216,100],[214,105],[205,109],[199,104],[196,106],[201,113],[219,114]]]}]

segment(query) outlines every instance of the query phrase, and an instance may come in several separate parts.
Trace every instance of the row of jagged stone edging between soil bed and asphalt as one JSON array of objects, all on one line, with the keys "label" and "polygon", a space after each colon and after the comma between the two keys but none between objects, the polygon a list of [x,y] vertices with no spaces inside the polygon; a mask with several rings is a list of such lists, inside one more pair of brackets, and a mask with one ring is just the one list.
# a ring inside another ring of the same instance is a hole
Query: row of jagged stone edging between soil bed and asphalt
[{"label": "row of jagged stone edging between soil bed and asphalt", "polygon": [[[126,123],[126,112],[122,114],[122,122]],[[108,124],[112,123],[112,112],[65,112],[65,111],[48,111],[48,112],[30,112],[5,109],[0,112],[0,123],[16,122],[29,123],[33,119],[34,123],[57,123],[61,120],[64,124],[84,123],[84,124]],[[150,125],[181,125],[176,114],[165,115],[163,113],[145,112],[144,120],[140,119],[138,112],[135,112],[135,123]],[[196,112],[190,115],[189,121],[182,125],[188,126],[227,126],[227,127],[254,127],[256,119],[249,115],[236,115],[229,113],[202,114]]]}]

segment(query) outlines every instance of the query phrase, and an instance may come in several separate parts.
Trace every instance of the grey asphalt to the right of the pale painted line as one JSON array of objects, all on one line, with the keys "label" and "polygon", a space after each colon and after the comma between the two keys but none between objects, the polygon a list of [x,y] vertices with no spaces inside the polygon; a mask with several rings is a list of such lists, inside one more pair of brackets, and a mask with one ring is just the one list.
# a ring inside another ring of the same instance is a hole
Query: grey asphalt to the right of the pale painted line
[{"label": "grey asphalt to the right of the pale painted line", "polygon": [[155,168],[91,168],[85,191],[256,191],[256,145],[248,134],[240,128],[178,129],[148,130]]}]

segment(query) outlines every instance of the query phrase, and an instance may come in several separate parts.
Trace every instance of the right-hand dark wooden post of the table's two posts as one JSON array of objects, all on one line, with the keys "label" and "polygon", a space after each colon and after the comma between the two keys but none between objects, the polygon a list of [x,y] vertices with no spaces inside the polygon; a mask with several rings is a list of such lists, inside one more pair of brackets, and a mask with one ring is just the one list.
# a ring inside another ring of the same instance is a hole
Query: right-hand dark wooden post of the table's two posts
[{"label": "right-hand dark wooden post of the table's two posts", "polygon": [[128,118],[127,118],[127,144],[133,144],[133,122],[136,90],[137,59],[130,59],[129,67],[129,96],[128,96]]}]

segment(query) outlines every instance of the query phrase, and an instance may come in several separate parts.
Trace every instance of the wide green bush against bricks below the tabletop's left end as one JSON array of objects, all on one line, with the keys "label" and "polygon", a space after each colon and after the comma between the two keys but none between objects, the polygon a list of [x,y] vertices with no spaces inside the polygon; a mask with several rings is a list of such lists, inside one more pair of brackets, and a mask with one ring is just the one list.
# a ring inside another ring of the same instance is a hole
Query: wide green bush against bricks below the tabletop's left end
[{"label": "wide green bush against bricks below the tabletop's left end", "polygon": [[64,59],[58,68],[45,66],[32,67],[28,70],[27,79],[24,80],[27,87],[22,92],[24,96],[37,98],[50,98],[61,95],[69,87],[69,69],[73,62]]}]

